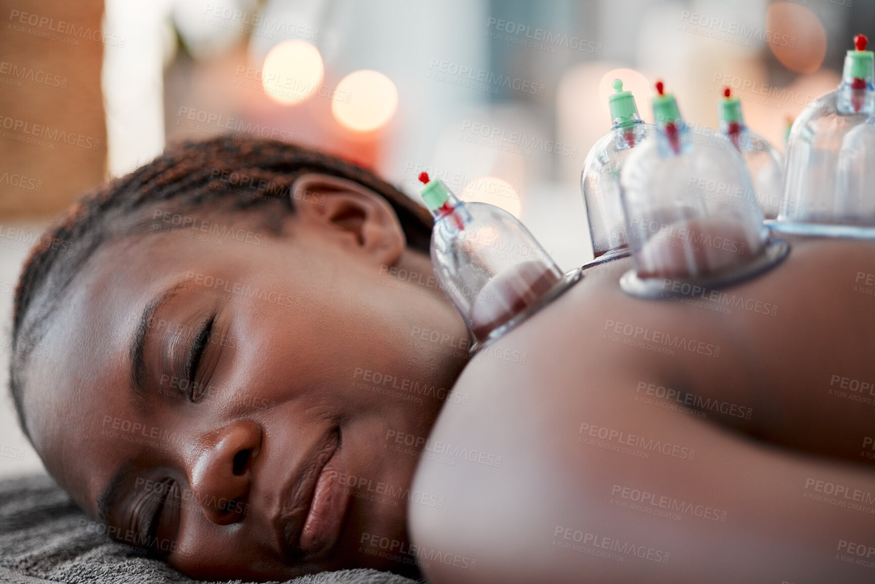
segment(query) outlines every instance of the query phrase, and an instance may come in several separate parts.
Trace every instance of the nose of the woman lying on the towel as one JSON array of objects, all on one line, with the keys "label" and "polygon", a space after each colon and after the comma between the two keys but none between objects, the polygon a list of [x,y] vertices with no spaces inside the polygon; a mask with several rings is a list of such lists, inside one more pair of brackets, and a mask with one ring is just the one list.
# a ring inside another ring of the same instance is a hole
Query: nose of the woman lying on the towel
[{"label": "nose of the woman lying on the towel", "polygon": [[252,463],[262,445],[261,427],[240,419],[201,437],[189,481],[204,516],[214,524],[241,521],[252,483]]}]

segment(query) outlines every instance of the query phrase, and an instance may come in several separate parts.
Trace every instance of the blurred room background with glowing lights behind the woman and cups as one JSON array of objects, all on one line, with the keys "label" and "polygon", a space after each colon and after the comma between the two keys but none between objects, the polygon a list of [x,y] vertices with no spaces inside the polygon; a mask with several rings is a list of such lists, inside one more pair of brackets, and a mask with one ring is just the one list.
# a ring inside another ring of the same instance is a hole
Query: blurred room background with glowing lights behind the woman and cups
[{"label": "blurred room background with glowing lights behind the woman and cups", "polygon": [[[165,144],[273,137],[429,172],[521,218],[563,269],[592,257],[580,172],[620,77],[662,79],[695,131],[724,86],[779,148],[839,81],[872,0],[0,0],[0,366],[12,291],[52,216]],[[0,401],[0,477],[41,468]]]}]

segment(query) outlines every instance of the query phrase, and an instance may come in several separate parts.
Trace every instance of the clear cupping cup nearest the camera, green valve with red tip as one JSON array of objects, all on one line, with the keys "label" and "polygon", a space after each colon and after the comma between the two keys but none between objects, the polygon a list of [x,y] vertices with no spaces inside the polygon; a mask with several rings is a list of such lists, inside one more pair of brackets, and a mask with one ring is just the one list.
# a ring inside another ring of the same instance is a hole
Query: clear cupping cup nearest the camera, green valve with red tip
[{"label": "clear cupping cup nearest the camera, green valve with red tip", "polygon": [[683,122],[674,95],[653,98],[655,139],[620,172],[634,269],[626,292],[659,298],[670,280],[730,285],[767,270],[788,251],[769,237],[744,158],[729,140],[703,141]]}]

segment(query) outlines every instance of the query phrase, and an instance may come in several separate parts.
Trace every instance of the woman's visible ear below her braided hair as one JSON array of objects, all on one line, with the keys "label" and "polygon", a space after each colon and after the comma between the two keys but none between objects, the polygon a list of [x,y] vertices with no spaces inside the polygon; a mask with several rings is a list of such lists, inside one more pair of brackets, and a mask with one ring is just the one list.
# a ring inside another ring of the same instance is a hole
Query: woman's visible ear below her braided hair
[{"label": "woman's visible ear below her braided hair", "polygon": [[299,221],[324,229],[347,250],[392,265],[407,248],[395,210],[367,186],[308,172],[292,183],[291,197]]}]

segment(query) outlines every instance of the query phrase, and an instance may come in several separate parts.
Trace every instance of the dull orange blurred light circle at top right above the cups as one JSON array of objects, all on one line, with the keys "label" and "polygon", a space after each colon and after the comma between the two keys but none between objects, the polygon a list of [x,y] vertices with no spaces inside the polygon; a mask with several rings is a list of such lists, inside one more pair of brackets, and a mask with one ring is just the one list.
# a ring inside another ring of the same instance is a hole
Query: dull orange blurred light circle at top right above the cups
[{"label": "dull orange blurred light circle at top right above the cups", "polygon": [[[784,67],[814,73],[826,55],[826,31],[816,14],[801,4],[777,2],[766,12],[767,45]],[[853,48],[848,39],[848,48]]]}]

